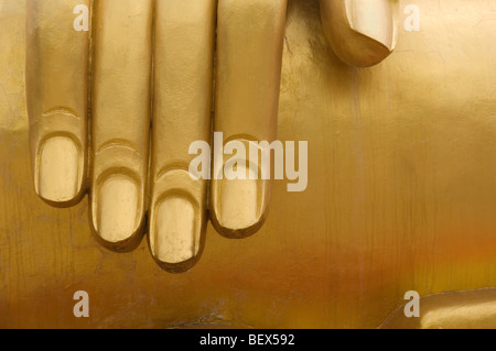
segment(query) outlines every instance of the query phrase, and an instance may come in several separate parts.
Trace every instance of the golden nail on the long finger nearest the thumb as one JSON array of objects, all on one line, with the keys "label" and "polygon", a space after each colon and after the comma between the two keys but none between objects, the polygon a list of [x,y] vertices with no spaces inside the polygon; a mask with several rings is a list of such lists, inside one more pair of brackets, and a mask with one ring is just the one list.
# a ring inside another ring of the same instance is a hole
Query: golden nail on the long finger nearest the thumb
[{"label": "golden nail on the long finger nearest the thumb", "polygon": [[[246,174],[246,167],[240,166]],[[251,169],[249,171],[251,173]],[[226,179],[220,185],[220,226],[241,230],[259,220],[258,180],[250,174],[246,179]]]}]

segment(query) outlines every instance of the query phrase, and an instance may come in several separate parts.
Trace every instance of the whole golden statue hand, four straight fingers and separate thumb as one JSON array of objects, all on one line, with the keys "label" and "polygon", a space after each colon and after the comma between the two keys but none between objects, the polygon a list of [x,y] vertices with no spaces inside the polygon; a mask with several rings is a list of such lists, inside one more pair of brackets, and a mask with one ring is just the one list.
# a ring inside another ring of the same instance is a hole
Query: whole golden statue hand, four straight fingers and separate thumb
[{"label": "whole golden statue hand, four straight fingers and separate thumb", "polygon": [[[389,1],[320,3],[344,62],[370,66],[393,48]],[[170,272],[197,262],[208,219],[228,238],[255,233],[270,183],[194,178],[191,145],[212,130],[224,143],[276,139],[285,10],[287,0],[29,0],[37,195],[67,207],[88,191],[96,238],[114,251],[136,248],[148,217],[152,256]]]}]

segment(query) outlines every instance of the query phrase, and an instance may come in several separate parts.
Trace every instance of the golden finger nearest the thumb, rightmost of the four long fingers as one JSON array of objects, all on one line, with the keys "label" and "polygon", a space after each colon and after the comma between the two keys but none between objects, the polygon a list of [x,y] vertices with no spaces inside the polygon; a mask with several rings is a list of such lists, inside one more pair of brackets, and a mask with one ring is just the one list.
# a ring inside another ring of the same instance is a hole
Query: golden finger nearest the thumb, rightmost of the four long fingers
[{"label": "golden finger nearest the thumb, rightmost of the four long fingers", "polygon": [[[214,139],[209,207],[214,227],[229,238],[255,233],[268,212],[271,185],[248,162],[248,150],[276,139],[285,12],[285,0],[218,4],[214,131],[223,135]],[[229,177],[217,156],[228,145],[237,145],[236,172],[244,177]]]}]

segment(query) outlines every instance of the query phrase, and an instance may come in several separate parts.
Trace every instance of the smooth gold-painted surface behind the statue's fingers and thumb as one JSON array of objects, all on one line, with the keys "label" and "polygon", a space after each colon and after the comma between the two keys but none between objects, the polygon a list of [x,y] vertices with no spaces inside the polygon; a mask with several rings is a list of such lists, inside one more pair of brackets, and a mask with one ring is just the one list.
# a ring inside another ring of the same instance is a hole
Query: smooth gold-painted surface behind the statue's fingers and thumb
[{"label": "smooth gold-painted surface behind the statue's fingers and thumb", "polygon": [[[87,199],[33,190],[24,98],[24,1],[0,0],[0,327],[328,328],[381,325],[405,292],[496,286],[496,2],[416,3],[374,68],[341,64],[316,0],[290,0],[279,140],[309,141],[309,187],[274,184],[245,240],[209,226],[204,255],[172,275],[145,241],[91,238]],[[73,316],[76,290],[90,317]]]}]

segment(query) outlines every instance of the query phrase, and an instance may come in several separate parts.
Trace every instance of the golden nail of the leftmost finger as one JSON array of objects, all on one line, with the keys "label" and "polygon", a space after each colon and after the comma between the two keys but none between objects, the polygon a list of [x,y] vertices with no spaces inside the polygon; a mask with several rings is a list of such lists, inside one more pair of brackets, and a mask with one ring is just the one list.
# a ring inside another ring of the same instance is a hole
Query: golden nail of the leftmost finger
[{"label": "golden nail of the leftmost finger", "polygon": [[39,195],[48,201],[65,202],[79,193],[79,151],[67,136],[53,136],[41,146]]}]

